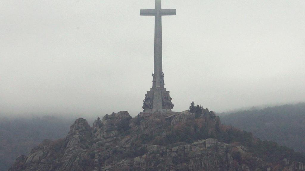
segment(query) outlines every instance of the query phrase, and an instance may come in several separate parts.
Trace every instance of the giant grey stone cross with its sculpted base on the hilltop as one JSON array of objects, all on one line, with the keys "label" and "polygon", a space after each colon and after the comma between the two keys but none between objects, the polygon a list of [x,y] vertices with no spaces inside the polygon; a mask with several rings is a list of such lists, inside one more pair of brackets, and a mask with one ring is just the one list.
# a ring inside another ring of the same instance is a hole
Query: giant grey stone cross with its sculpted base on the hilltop
[{"label": "giant grey stone cross with its sculpted base on the hilltop", "polygon": [[164,73],[162,71],[162,16],[176,15],[176,9],[162,9],[161,0],[155,0],[155,9],[141,9],[141,16],[155,16],[155,52],[152,88],[143,103],[143,112],[170,112],[174,107],[170,92],[164,88]]}]

